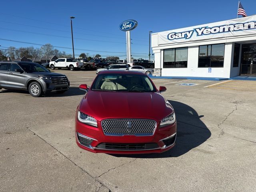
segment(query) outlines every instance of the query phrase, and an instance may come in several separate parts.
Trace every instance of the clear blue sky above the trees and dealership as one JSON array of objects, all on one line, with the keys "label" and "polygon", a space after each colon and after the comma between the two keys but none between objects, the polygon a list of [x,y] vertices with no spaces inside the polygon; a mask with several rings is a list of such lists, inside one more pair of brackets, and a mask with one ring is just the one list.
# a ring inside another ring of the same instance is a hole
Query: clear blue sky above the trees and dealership
[{"label": "clear blue sky above the trees and dealership", "polygon": [[[248,16],[256,14],[255,0],[242,0]],[[12,0],[1,2],[0,38],[72,48],[70,16],[73,20],[75,54],[100,54],[126,58],[125,32],[119,24],[138,22],[131,31],[132,56],[148,55],[148,32],[206,24],[236,18],[236,0]],[[0,40],[2,47],[31,45]],[[66,53],[71,49],[57,48]],[[152,51],[151,51],[152,52]]]}]

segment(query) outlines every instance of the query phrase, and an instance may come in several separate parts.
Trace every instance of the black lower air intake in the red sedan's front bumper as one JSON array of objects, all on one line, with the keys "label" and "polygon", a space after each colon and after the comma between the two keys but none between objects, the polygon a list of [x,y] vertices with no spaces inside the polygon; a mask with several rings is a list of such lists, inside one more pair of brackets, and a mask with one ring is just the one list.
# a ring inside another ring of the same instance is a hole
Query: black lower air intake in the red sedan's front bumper
[{"label": "black lower air intake in the red sedan's front bumper", "polygon": [[100,143],[97,145],[98,149],[105,150],[152,150],[159,148],[156,143]]}]

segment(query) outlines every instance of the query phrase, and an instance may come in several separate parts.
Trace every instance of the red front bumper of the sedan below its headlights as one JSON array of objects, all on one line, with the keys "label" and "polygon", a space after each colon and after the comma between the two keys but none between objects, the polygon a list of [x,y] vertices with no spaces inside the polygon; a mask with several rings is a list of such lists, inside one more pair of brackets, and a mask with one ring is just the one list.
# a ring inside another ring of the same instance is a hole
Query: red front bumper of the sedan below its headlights
[{"label": "red front bumper of the sedan below its headlights", "polygon": [[77,119],[75,124],[77,145],[94,153],[162,153],[174,147],[176,140],[176,122],[164,128],[159,128],[158,123],[152,136],[106,136],[100,122],[98,128],[83,124]]}]

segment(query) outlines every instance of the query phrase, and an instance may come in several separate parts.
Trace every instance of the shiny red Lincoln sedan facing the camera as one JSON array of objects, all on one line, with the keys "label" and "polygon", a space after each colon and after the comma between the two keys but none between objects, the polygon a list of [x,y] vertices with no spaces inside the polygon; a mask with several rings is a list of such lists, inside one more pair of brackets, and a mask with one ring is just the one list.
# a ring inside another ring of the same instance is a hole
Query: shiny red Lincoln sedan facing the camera
[{"label": "shiny red Lincoln sedan facing the camera", "polygon": [[98,153],[141,154],[169,150],[176,140],[171,104],[144,73],[102,71],[76,111],[76,143]]}]

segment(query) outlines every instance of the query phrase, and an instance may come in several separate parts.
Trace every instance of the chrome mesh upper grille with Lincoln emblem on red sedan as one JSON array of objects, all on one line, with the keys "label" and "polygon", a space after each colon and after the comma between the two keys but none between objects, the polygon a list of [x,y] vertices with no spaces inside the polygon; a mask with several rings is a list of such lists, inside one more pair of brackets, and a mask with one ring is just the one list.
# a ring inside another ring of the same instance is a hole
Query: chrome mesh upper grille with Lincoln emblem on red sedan
[{"label": "chrome mesh upper grille with Lincoln emblem on red sedan", "polygon": [[156,129],[156,121],[147,119],[106,119],[101,122],[105,135],[151,136]]}]

